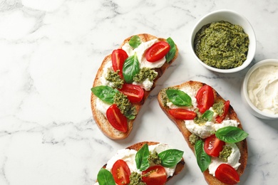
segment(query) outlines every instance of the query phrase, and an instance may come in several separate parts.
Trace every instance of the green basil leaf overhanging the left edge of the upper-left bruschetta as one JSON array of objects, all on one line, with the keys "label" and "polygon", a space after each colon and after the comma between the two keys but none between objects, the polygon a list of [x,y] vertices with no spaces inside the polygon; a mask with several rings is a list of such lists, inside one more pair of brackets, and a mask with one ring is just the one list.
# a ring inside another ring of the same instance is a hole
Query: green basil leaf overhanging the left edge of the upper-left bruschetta
[{"label": "green basil leaf overhanging the left edge of the upper-left bruschetta", "polygon": [[115,90],[107,85],[100,85],[100,86],[91,88],[91,91],[93,92],[94,95],[96,95],[103,102],[113,104],[115,92],[117,90]]}]

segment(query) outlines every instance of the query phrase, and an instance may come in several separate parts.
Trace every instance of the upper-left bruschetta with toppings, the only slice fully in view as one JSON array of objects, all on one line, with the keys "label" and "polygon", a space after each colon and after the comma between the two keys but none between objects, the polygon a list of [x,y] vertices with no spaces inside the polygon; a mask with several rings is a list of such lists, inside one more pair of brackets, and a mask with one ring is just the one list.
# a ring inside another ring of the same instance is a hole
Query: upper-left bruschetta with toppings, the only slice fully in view
[{"label": "upper-left bruschetta with toppings, the only slice fully in view", "polygon": [[91,88],[93,118],[110,139],[125,139],[155,82],[177,58],[172,38],[126,38],[101,63]]}]

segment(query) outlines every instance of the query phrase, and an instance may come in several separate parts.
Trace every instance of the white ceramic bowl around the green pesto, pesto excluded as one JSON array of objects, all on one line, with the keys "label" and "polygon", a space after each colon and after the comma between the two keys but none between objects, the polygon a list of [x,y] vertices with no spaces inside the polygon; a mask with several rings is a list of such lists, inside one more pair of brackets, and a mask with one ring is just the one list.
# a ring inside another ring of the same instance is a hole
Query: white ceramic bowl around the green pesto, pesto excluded
[{"label": "white ceramic bowl around the green pesto, pesto excluded", "polygon": [[[247,33],[249,36],[249,48],[248,48],[248,53],[247,53],[247,60],[245,60],[244,63],[237,68],[231,68],[231,69],[213,68],[210,65],[203,63],[202,60],[200,60],[197,57],[197,55],[195,54],[194,39],[195,39],[195,35],[196,35],[197,31],[199,31],[200,28],[202,28],[202,26],[205,26],[206,24],[212,23],[215,21],[228,21],[232,24],[242,26],[242,28],[244,29],[244,32]],[[218,10],[218,11],[214,11],[214,12],[202,17],[200,19],[200,21],[198,21],[196,23],[196,25],[194,26],[194,28],[192,29],[190,42],[191,42],[190,48],[191,48],[192,53],[193,53],[194,57],[196,58],[196,60],[199,63],[201,63],[203,66],[205,66],[205,68],[218,72],[218,73],[235,73],[237,71],[240,71],[240,70],[246,68],[249,65],[249,63],[252,62],[252,60],[254,58],[254,53],[256,51],[256,36],[254,34],[254,30],[253,30],[251,24],[249,23],[249,21],[247,21],[246,18],[244,18],[244,16],[237,14],[235,11],[230,11],[230,10]]]}]

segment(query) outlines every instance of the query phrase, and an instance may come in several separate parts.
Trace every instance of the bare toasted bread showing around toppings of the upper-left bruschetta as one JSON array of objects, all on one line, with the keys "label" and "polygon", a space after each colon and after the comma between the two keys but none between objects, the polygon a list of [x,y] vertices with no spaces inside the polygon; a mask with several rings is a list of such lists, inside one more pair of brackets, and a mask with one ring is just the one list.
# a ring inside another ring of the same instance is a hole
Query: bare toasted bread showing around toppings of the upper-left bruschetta
[{"label": "bare toasted bread showing around toppings of the upper-left bruschetta", "polygon": [[[155,36],[152,36],[150,34],[145,34],[145,33],[138,34],[138,36],[140,37],[142,42],[150,41],[150,40],[157,38]],[[122,48],[122,46],[125,43],[128,43],[130,41],[130,38],[132,38],[132,37],[133,36],[126,38],[125,41],[123,41],[123,43],[120,45],[119,48]],[[165,38],[158,38],[158,41],[166,41],[166,40],[165,40]],[[176,46],[176,48],[177,48],[177,46]],[[111,51],[111,53],[112,53],[112,51]],[[156,72],[158,72],[158,76],[153,81],[152,88],[150,89],[150,91],[144,90],[144,97],[140,103],[133,104],[135,109],[137,110],[137,112],[139,112],[141,106],[144,104],[145,100],[148,98],[148,95],[150,95],[151,90],[153,90],[153,88],[155,88],[155,83],[158,80],[158,78],[160,78],[161,75],[163,75],[163,73],[165,73],[165,70],[177,58],[177,53],[178,53],[178,49],[176,50],[175,57],[172,60],[170,60],[169,62],[165,62],[160,68],[154,69]],[[101,63],[101,67],[98,69],[98,72],[96,73],[96,78],[93,82],[93,87],[102,85],[101,84],[101,76],[103,75],[103,68],[106,65],[106,63],[108,63],[110,60],[111,60],[111,54],[104,58],[103,63]],[[133,129],[133,122],[135,120],[128,120],[128,131],[127,132],[118,131],[117,129],[115,129],[114,127],[112,127],[110,125],[110,123],[106,119],[105,115],[103,115],[103,113],[101,113],[99,110],[96,109],[96,99],[97,99],[96,95],[93,95],[93,93],[91,93],[91,109],[93,112],[93,119],[96,121],[96,124],[101,129],[103,134],[105,134],[110,139],[125,139],[126,137],[128,137],[131,130]]]}]

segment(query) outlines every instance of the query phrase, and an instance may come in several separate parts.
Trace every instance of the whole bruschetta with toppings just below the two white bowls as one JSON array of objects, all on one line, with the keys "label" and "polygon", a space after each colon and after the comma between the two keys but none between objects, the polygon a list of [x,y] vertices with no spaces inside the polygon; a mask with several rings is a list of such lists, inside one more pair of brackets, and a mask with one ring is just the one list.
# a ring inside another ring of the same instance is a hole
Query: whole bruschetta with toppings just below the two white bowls
[{"label": "whole bruschetta with toppings just below the two white bowls", "polygon": [[195,153],[208,184],[237,184],[247,165],[247,132],[229,100],[210,85],[187,81],[158,94],[165,114]]}]

